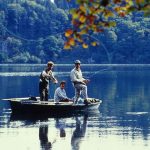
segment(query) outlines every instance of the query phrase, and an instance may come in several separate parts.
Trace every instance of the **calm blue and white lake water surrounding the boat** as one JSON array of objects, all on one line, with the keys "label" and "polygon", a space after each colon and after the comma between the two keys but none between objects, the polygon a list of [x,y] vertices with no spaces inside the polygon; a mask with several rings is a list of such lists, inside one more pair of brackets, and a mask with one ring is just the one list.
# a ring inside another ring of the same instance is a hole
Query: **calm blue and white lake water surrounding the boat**
[{"label": "calm blue and white lake water surrounding the boat", "polygon": [[[55,75],[67,81],[72,65],[58,65]],[[38,96],[43,65],[0,65],[0,99]],[[150,66],[84,65],[91,82],[89,97],[103,100],[99,110],[65,118],[25,118],[11,115],[0,102],[0,149],[4,150],[149,150]],[[56,86],[51,85],[50,98]]]}]

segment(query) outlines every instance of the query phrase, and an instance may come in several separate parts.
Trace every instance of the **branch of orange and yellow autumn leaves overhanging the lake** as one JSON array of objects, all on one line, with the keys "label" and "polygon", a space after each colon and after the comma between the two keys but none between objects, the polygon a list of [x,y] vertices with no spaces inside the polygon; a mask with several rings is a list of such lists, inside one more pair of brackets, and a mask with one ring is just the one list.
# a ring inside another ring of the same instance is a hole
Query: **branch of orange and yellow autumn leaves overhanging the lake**
[{"label": "branch of orange and yellow autumn leaves overhanging the lake", "polygon": [[150,0],[77,0],[77,4],[77,8],[70,10],[73,27],[65,33],[65,49],[71,49],[77,44],[83,48],[98,45],[91,34],[102,33],[105,29],[116,26],[116,16],[125,17],[133,11],[150,14]]}]

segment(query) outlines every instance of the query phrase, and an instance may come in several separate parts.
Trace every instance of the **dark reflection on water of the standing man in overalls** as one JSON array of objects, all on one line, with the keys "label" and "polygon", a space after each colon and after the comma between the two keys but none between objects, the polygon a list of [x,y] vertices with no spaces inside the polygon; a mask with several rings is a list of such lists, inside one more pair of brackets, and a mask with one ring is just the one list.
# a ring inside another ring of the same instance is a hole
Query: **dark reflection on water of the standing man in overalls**
[{"label": "dark reflection on water of the standing man in overalls", "polygon": [[51,149],[52,144],[48,141],[48,125],[43,125],[39,127],[39,139],[41,148],[43,150]]}]

